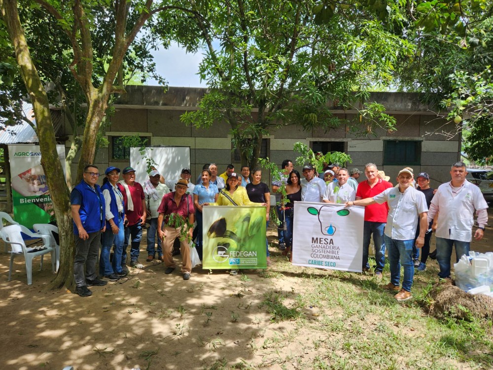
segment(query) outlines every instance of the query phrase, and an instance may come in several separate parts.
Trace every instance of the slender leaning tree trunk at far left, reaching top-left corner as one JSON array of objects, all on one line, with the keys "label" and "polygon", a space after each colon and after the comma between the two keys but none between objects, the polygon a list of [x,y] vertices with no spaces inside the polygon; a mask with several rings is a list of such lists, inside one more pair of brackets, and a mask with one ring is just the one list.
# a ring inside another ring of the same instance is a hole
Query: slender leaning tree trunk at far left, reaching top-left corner
[{"label": "slender leaning tree trunk at far left, reaching top-left corner", "polygon": [[46,91],[41,83],[35,65],[31,58],[19,20],[16,0],[0,0],[0,11],[7,26],[7,31],[15,50],[17,64],[20,67],[22,79],[31,97],[36,118],[37,136],[41,150],[41,165],[50,188],[55,217],[58,222],[61,245],[61,264],[58,275],[52,282],[52,287],[73,286],[73,233],[70,217],[69,189],[65,182],[62,164],[58,158],[55,131],[51,120],[50,108]]}]

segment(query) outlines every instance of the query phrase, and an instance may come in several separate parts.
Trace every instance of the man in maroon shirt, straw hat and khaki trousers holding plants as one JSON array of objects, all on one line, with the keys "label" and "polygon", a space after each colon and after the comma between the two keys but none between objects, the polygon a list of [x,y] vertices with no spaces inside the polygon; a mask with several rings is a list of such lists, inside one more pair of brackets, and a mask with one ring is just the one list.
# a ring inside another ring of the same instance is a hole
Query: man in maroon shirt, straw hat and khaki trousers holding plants
[{"label": "man in maroon shirt, straw hat and khaki trousers holding plants", "polygon": [[[180,240],[181,246],[181,273],[183,274],[183,280],[190,279],[190,272],[192,271],[192,262],[190,260],[190,245],[189,240],[192,239],[193,232],[193,222],[195,217],[195,208],[193,207],[193,199],[190,194],[186,194],[188,189],[188,181],[185,179],[180,179],[175,185],[175,191],[165,194],[163,200],[159,205],[157,211],[159,216],[157,219],[158,225],[164,225],[159,228],[159,237],[163,239],[163,257],[164,264],[166,265],[165,274],[171,274],[176,267],[173,261],[173,243],[175,239],[180,237],[182,227],[188,227],[188,238]],[[170,215],[174,214],[176,216],[181,216],[182,221],[188,220],[188,225],[179,225],[170,221]]]}]

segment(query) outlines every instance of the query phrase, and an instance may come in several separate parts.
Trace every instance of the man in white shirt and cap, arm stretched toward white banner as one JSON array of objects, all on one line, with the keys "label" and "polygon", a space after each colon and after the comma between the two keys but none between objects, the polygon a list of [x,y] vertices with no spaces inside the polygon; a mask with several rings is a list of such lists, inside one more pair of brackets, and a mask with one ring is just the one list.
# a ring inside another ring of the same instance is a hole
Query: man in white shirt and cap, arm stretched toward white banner
[{"label": "man in white shirt and cap, arm stretched toward white banner", "polygon": [[[426,199],[423,192],[416,190],[413,184],[413,173],[408,169],[399,171],[396,187],[385,189],[371,198],[347,202],[346,205],[367,206],[387,202],[389,212],[384,231],[385,245],[390,264],[390,283],[385,286],[391,291],[399,291],[394,297],[397,300],[412,298],[411,286],[414,278],[413,244],[416,229],[420,224],[420,234],[416,238],[416,247],[424,244],[424,233],[428,226],[426,221]],[[400,267],[404,267],[402,289],[400,287]]]}]

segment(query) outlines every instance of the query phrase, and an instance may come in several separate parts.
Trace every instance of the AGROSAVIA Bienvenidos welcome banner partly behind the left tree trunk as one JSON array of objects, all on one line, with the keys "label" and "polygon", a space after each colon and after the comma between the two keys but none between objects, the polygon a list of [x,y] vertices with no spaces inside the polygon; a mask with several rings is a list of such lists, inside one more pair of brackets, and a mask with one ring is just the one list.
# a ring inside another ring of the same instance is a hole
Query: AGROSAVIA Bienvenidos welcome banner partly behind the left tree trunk
[{"label": "AGROSAVIA Bienvenidos welcome banner partly behind the left tree trunk", "polygon": [[[65,172],[65,146],[57,145],[57,152]],[[9,145],[12,205],[14,220],[28,228],[35,223],[55,220],[53,203],[41,167],[38,145]]]}]

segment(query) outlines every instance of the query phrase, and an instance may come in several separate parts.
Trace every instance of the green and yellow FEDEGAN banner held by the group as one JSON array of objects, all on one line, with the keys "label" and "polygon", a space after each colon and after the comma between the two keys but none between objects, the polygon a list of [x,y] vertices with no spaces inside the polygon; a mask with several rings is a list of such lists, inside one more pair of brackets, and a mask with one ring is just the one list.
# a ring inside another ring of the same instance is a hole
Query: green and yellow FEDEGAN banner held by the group
[{"label": "green and yellow FEDEGAN banner held by the group", "polygon": [[203,260],[209,269],[267,268],[265,207],[203,208]]}]

